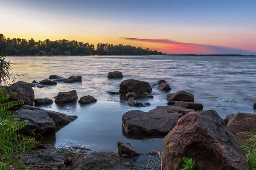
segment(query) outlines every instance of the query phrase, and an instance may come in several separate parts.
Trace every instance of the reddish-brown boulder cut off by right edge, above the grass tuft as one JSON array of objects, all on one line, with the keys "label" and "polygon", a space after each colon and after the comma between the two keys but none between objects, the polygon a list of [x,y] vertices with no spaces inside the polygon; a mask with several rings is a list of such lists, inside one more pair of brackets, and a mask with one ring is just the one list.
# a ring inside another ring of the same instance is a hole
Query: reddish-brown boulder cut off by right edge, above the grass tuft
[{"label": "reddish-brown boulder cut off by right edge, above the grass tuft", "polygon": [[[250,132],[253,129],[256,129],[256,114],[252,113],[236,113],[228,122],[227,127],[234,135],[240,132]],[[236,140],[244,142],[245,139],[248,139],[246,136],[248,134],[239,134],[236,135]]]}]

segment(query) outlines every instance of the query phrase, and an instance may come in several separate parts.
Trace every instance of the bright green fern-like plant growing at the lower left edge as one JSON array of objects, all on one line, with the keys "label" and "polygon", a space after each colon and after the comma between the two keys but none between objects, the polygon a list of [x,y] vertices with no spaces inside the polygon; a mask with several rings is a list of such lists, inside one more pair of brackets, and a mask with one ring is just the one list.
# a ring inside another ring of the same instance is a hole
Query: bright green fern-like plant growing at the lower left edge
[{"label": "bright green fern-like plant growing at the lower left edge", "polygon": [[11,95],[8,91],[0,89],[0,170],[27,170],[28,168],[20,162],[17,156],[13,156],[16,152],[25,152],[26,150],[35,148],[35,139],[27,139],[17,134],[16,131],[24,127],[28,121],[24,120],[17,124],[18,119],[12,115],[9,108],[15,105],[23,105],[23,101],[6,102]]}]

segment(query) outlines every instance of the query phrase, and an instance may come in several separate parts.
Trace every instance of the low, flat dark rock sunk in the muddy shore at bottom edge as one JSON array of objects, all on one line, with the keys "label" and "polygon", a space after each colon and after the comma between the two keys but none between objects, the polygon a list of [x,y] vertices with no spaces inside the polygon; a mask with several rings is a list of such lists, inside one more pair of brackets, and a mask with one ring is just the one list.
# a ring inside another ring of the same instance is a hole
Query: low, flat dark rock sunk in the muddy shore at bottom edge
[{"label": "low, flat dark rock sunk in the muddy shore at bottom edge", "polygon": [[82,167],[90,170],[112,170],[121,161],[121,157],[114,152],[88,152],[73,159],[73,170],[82,170]]}]

